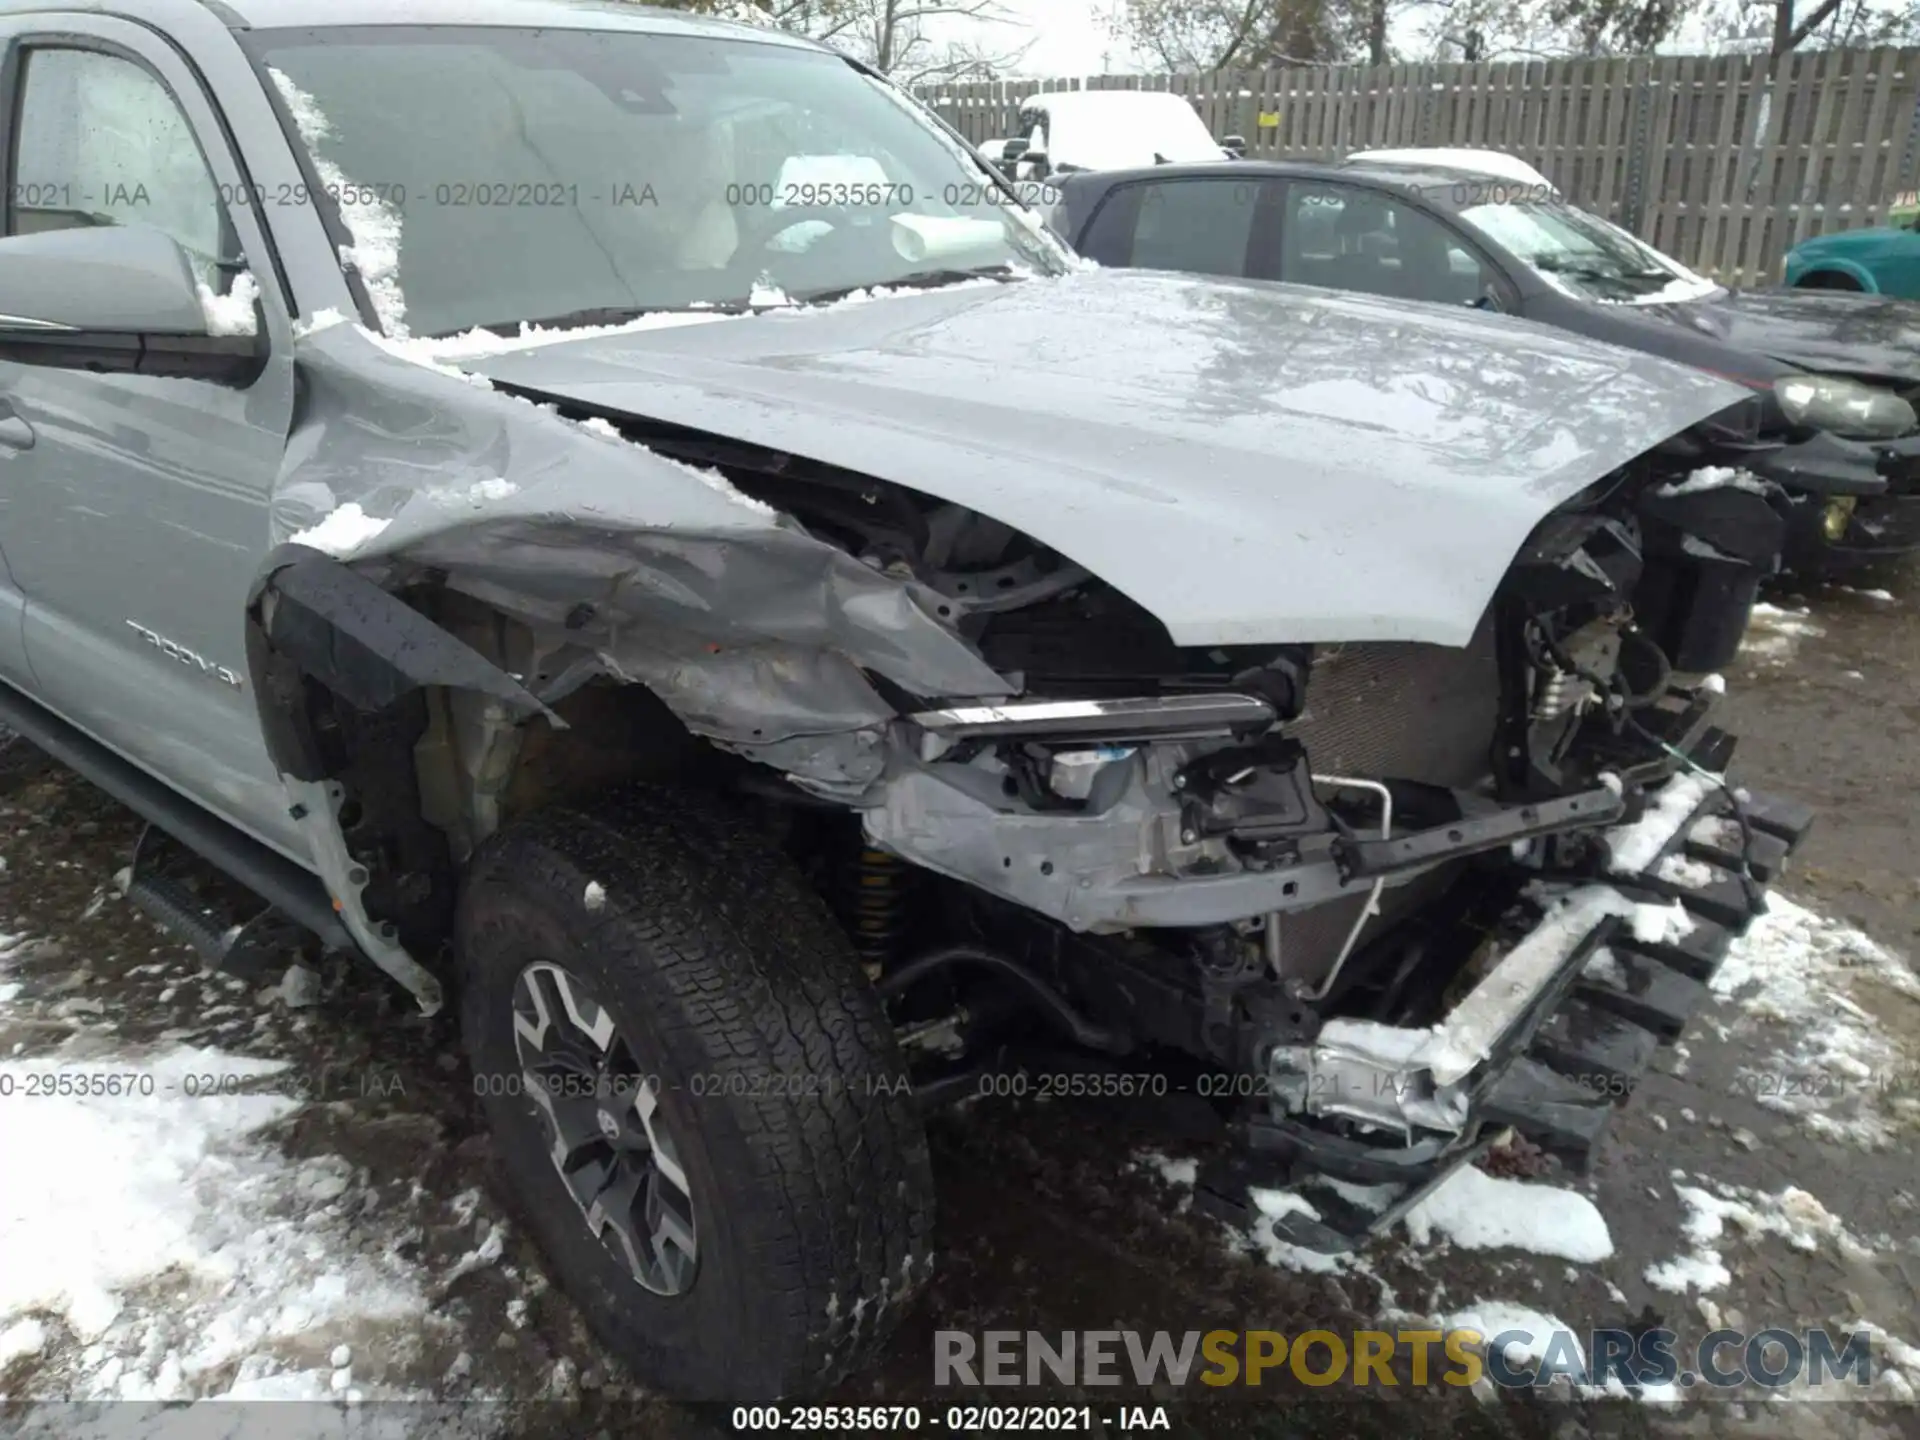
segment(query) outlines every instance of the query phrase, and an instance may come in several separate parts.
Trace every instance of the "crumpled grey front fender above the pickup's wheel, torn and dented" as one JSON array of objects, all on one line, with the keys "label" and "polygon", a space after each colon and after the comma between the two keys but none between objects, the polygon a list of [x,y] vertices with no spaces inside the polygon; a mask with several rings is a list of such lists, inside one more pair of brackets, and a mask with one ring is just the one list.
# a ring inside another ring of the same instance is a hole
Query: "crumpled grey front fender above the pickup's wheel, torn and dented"
[{"label": "crumpled grey front fender above the pickup's wheel, torn and dented", "polygon": [[[440,987],[380,916],[392,902],[369,908],[378,881],[348,843],[355,747],[336,733],[328,755],[317,733],[338,730],[342,707],[382,726],[413,697],[455,697],[465,778],[480,787],[511,764],[524,720],[559,724],[551,705],[607,676],[649,689],[695,735],[856,799],[887,768],[897,707],[879,684],[922,699],[1010,693],[943,622],[939,593],[860,564],[716,472],[392,346],[344,324],[301,340],[280,543],[250,595],[248,659],[315,868],[361,948],[424,1008]],[[459,609],[449,595],[490,618],[455,634],[440,622]],[[388,747],[407,764],[424,714],[415,705],[415,730]],[[480,833],[497,820],[486,803],[470,812]]]}]

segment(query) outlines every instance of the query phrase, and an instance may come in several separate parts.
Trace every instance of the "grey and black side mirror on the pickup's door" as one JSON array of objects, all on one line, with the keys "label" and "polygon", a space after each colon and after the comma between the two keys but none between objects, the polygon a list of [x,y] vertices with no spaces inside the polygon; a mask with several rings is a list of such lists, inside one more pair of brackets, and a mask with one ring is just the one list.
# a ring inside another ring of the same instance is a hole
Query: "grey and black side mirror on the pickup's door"
[{"label": "grey and black side mirror on the pickup's door", "polygon": [[[246,384],[265,348],[211,334],[186,252],[142,225],[42,230],[0,240],[0,359],[106,374]],[[227,317],[217,328],[238,328]]]}]

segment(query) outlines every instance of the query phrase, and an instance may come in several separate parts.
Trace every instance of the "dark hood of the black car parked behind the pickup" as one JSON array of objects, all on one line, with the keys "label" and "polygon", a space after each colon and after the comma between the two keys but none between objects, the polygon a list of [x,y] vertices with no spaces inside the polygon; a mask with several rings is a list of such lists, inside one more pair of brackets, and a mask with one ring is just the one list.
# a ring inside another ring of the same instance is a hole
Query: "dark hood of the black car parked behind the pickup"
[{"label": "dark hood of the black car parked behind the pickup", "polygon": [[1676,324],[1824,374],[1920,382],[1920,305],[1845,290],[1759,290],[1655,305]]}]

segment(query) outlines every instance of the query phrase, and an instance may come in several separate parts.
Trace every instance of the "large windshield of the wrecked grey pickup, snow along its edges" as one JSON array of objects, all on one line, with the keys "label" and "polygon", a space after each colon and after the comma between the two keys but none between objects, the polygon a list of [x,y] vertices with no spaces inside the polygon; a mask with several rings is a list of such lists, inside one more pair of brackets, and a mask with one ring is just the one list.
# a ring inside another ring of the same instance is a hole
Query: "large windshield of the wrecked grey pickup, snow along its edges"
[{"label": "large windshield of the wrecked grey pickup, snow along its edges", "polygon": [[1066,265],[958,140],[839,56],[643,31],[246,38],[390,334]]}]

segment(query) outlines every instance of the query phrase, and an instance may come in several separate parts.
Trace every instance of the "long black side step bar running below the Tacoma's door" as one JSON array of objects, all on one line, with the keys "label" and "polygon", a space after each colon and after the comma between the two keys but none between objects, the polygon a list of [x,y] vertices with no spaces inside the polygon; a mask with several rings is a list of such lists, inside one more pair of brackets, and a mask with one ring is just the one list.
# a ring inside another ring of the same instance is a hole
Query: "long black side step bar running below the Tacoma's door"
[{"label": "long black side step bar running below the Tacoma's door", "polygon": [[328,950],[355,948],[319,876],[301,870],[278,851],[200,808],[171,785],[154,780],[6,682],[0,682],[0,724],[19,732],[23,739],[33,741],[129,810],[225,870],[267,904],[319,935],[321,945]]}]

